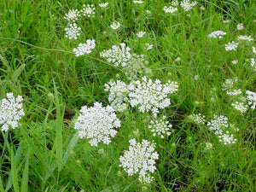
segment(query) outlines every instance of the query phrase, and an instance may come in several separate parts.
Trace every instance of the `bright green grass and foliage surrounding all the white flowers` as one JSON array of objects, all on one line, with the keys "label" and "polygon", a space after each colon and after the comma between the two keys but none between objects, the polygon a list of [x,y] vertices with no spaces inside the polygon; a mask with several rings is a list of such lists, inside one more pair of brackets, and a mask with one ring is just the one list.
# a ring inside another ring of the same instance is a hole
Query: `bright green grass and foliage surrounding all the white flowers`
[{"label": "bright green grass and foliage surrounding all the white flowers", "polygon": [[[237,51],[224,49],[239,35],[256,38],[253,0],[201,0],[175,15],[163,11],[170,2],[164,0],[142,5],[110,0],[108,9],[100,9],[98,0],[82,2],[94,3],[96,15],[79,20],[81,36],[69,40],[63,17],[69,9],[81,9],[81,1],[0,1],[0,98],[8,92],[23,96],[26,113],[19,128],[1,134],[0,191],[255,191],[255,110],[241,115],[222,90],[225,79],[236,77],[238,88],[256,92],[249,61],[255,58],[255,40],[241,42]],[[109,27],[113,20],[121,24],[117,31]],[[243,30],[236,29],[238,23]],[[217,30],[227,35],[207,37]],[[139,31],[147,33],[137,38]],[[86,39],[96,39],[96,49],[73,55]],[[117,113],[121,127],[112,142],[91,147],[87,139],[79,139],[74,122],[82,106],[108,105],[104,84],[110,79],[130,83],[122,68],[99,55],[120,43],[145,56],[148,79],[179,84],[170,96],[172,105],[160,113],[171,122],[172,135],[153,137],[147,128],[152,114],[128,108]],[[147,50],[144,44],[154,48]],[[188,118],[193,113],[204,114],[207,121],[214,114],[226,115],[239,128],[237,142],[220,143],[207,125]],[[160,158],[148,185],[119,167],[131,138],[156,143]],[[206,143],[212,148],[206,149]]]}]

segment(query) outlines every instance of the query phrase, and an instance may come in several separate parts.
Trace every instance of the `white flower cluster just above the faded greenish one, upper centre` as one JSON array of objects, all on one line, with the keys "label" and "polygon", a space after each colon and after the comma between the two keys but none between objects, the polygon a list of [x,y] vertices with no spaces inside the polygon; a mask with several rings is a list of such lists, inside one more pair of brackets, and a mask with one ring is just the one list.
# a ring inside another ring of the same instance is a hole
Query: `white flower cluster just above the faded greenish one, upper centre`
[{"label": "white flower cluster just above the faded greenish one, upper centre", "polygon": [[103,50],[100,55],[101,57],[107,57],[107,61],[113,63],[115,67],[121,65],[125,67],[127,62],[131,59],[130,48],[126,47],[125,44],[119,46],[113,45],[112,49]]}]

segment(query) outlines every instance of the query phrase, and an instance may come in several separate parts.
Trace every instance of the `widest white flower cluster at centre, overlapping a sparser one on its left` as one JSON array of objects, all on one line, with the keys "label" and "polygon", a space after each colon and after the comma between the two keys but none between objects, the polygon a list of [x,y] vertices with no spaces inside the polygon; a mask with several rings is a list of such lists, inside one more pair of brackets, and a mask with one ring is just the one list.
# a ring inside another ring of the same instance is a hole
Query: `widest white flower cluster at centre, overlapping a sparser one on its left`
[{"label": "widest white flower cluster at centre, overlapping a sparser one on its left", "polygon": [[159,109],[171,105],[167,96],[177,91],[177,87],[177,82],[168,81],[166,84],[161,84],[161,81],[156,79],[153,83],[144,76],[142,81],[137,80],[134,84],[128,85],[129,102],[131,107],[138,106],[140,112],[151,111],[156,116]]}]

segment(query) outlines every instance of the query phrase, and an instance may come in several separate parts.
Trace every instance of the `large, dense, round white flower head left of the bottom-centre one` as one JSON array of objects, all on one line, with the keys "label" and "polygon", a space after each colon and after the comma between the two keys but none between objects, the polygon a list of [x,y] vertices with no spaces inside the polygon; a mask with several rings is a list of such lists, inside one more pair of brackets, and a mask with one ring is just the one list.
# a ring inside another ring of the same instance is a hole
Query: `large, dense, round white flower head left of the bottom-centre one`
[{"label": "large, dense, round white flower head left of the bottom-centre one", "polygon": [[93,107],[84,106],[80,110],[79,118],[76,120],[74,128],[79,130],[79,137],[89,138],[91,146],[97,143],[111,143],[110,137],[117,133],[113,128],[120,127],[120,121],[116,117],[113,108],[102,107],[102,103],[95,102]]}]

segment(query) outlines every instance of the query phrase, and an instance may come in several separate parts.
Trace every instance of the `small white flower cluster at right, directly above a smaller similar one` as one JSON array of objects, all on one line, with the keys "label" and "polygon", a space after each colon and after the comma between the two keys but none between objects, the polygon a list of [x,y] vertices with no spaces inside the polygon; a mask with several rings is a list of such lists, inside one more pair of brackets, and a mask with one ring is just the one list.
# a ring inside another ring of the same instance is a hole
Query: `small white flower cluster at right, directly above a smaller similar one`
[{"label": "small white flower cluster at right, directly above a smaller similar one", "polygon": [[211,131],[215,131],[216,135],[221,135],[224,131],[224,128],[227,128],[228,118],[224,115],[213,115],[213,119],[207,123]]}]

